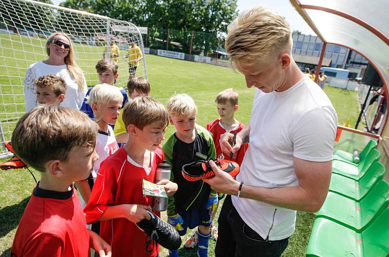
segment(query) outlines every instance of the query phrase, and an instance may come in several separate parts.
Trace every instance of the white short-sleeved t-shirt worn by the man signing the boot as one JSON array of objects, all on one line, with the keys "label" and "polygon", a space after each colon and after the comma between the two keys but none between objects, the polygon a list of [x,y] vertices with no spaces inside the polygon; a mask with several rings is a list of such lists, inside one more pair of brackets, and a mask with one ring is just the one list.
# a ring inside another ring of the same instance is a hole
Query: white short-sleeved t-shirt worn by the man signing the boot
[{"label": "white short-sleeved t-shirt worn by the man signing the boot", "polygon": [[[256,89],[250,146],[236,180],[265,188],[298,185],[293,157],[331,161],[336,126],[331,101],[308,77],[283,92],[265,94]],[[264,239],[281,240],[295,230],[295,210],[236,196],[232,203],[245,223]]]}]

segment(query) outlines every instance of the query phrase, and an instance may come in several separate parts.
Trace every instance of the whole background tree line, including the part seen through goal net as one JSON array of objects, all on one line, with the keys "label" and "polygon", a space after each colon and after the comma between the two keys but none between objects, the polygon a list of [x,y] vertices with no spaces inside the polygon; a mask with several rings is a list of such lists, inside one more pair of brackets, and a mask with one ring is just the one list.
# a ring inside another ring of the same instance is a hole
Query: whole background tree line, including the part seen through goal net
[{"label": "whole background tree line, including the part seen through goal net", "polygon": [[[51,3],[51,0],[39,0]],[[67,32],[64,20],[73,20],[71,13],[50,11],[30,2],[20,5],[21,10],[11,8],[13,0],[1,0],[0,23],[5,23],[14,30],[31,28],[38,32],[53,31],[62,28]],[[166,48],[185,53],[212,53],[218,47],[217,35],[227,32],[227,25],[238,15],[236,0],[66,0],[60,4],[63,7],[87,11],[110,18],[129,21],[137,26],[148,27],[148,35],[144,43],[150,48]],[[34,7],[33,7],[34,6]],[[28,13],[31,12],[32,16]],[[33,16],[40,16],[38,21]],[[66,17],[65,17],[66,16]],[[84,17],[79,17],[85,19]],[[87,20],[85,20],[87,21]],[[97,28],[88,22],[77,22],[73,26],[74,36],[88,35]],[[0,24],[1,25],[1,24]],[[98,26],[98,25],[96,25]],[[104,28],[103,28],[104,29]],[[190,49],[194,32],[193,47]],[[69,31],[71,32],[71,31]],[[89,35],[93,37],[93,35]],[[167,44],[166,40],[176,44]],[[224,45],[224,40],[221,42]],[[223,48],[221,49],[223,50]]]}]

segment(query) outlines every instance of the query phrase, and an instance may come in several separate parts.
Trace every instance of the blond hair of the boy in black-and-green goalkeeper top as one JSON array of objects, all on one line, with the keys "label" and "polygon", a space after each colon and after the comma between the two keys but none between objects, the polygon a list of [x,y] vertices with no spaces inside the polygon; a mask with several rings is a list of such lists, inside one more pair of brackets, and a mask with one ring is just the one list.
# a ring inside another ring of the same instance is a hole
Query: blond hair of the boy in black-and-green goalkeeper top
[{"label": "blond hair of the boy in black-and-green goalkeeper top", "polygon": [[187,94],[177,94],[170,97],[166,103],[167,111],[170,115],[179,117],[197,116],[197,106],[191,96]]}]

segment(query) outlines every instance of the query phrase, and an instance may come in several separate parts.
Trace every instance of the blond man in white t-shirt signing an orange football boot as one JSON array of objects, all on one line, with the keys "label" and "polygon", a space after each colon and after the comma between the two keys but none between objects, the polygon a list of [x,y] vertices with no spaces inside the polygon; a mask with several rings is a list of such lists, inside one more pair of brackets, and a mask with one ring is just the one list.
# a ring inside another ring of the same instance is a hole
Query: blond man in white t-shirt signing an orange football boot
[{"label": "blond man in white t-shirt signing an orange football boot", "polygon": [[231,195],[220,213],[215,255],[279,257],[296,210],[316,212],[325,200],[337,115],[294,62],[290,27],[281,16],[264,7],[243,12],[230,24],[225,46],[256,89],[250,122],[235,146],[230,133],[220,139],[226,154],[250,143],[236,180],[212,162],[216,177],[204,179]]}]

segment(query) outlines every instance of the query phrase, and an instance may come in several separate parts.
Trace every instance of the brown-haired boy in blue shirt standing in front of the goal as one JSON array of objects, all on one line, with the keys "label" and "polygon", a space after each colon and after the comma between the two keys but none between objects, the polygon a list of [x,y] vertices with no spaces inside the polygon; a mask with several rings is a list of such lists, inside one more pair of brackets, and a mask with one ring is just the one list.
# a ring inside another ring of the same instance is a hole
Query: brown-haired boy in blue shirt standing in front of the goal
[{"label": "brown-haired boy in blue shirt standing in front of the goal", "polygon": [[[119,67],[118,64],[112,59],[100,60],[95,66],[96,72],[99,76],[100,83],[114,85],[116,79],[119,76],[118,67]],[[89,96],[92,88],[93,87],[88,89],[87,95],[85,96],[84,102],[81,106],[81,112],[85,112],[91,119],[94,119],[95,115],[92,110],[92,107],[90,106],[90,104],[87,103],[87,96]],[[120,92],[123,95],[123,102],[122,102],[122,108],[123,108],[124,104],[128,102],[128,97],[123,88],[120,88]]]}]

